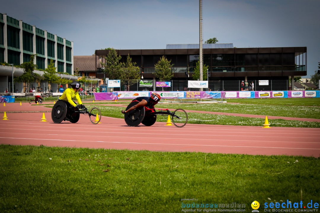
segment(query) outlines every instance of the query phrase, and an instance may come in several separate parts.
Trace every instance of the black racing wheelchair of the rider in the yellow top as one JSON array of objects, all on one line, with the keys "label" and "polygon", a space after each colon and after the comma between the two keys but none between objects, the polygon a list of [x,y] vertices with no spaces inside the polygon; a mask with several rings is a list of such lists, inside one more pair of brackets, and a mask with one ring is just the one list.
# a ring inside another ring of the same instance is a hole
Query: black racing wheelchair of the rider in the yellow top
[{"label": "black racing wheelchair of the rider in the yellow top", "polygon": [[101,112],[97,107],[93,107],[89,112],[85,107],[78,109],[62,100],[57,101],[52,107],[51,118],[56,124],[66,120],[71,123],[76,123],[80,118],[80,114],[89,115],[92,124],[98,124],[101,119]]}]

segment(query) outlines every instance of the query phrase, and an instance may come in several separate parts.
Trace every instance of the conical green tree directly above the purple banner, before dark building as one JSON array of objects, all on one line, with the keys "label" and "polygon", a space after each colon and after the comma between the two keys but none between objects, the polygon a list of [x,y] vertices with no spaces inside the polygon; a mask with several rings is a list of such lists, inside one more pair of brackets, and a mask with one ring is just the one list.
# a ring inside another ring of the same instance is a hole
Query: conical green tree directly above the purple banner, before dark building
[{"label": "conical green tree directly above the purple banner, before dark building", "polygon": [[160,58],[160,60],[155,65],[156,77],[159,78],[160,81],[171,80],[173,77],[171,60],[168,61],[164,56]]}]

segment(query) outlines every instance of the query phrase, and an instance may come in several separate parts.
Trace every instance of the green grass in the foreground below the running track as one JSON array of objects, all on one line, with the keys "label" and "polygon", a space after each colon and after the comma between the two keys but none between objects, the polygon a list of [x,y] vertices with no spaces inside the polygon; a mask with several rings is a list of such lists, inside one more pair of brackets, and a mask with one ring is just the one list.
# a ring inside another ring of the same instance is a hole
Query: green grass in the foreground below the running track
[{"label": "green grass in the foreground below the running track", "polygon": [[0,212],[181,212],[191,198],[263,212],[320,197],[313,157],[0,145],[0,162]]}]

